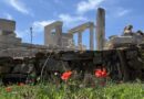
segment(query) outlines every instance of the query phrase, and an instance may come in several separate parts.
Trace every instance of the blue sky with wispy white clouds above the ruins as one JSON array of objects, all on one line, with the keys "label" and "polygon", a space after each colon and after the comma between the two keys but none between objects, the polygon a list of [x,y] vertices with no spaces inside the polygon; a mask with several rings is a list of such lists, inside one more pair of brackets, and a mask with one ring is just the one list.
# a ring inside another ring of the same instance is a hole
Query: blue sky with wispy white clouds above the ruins
[{"label": "blue sky with wispy white clouds above the ruins", "polygon": [[[144,0],[0,0],[0,18],[17,21],[17,34],[30,42],[33,26],[33,43],[43,44],[43,26],[53,21],[63,21],[63,31],[81,23],[95,23],[96,8],[106,10],[106,37],[120,35],[127,24],[134,31],[144,30]],[[76,35],[75,35],[76,42]],[[89,46],[89,31],[83,34],[83,44]]]}]

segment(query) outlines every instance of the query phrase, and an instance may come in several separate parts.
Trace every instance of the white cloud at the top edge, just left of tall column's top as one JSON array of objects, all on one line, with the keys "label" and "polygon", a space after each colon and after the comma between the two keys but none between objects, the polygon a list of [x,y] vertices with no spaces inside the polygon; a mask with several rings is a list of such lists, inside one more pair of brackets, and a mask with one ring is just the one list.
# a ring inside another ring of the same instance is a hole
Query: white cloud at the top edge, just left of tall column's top
[{"label": "white cloud at the top edge, just left of tall column's top", "polygon": [[88,0],[78,3],[78,13],[85,13],[90,10],[95,10],[105,0]]}]

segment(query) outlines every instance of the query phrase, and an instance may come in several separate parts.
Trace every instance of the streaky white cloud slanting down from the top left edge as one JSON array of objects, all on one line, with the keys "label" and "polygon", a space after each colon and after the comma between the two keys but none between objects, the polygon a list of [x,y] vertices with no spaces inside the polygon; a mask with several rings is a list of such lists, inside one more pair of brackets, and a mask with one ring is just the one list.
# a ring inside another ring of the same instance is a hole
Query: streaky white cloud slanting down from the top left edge
[{"label": "streaky white cloud slanting down from the top left edge", "polygon": [[6,0],[6,3],[10,4],[12,8],[21,13],[30,14],[30,11],[25,7],[25,4],[21,2],[21,0]]}]

